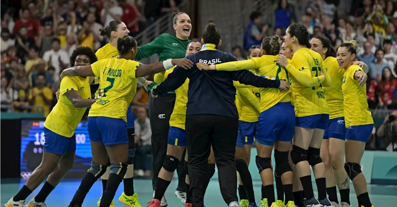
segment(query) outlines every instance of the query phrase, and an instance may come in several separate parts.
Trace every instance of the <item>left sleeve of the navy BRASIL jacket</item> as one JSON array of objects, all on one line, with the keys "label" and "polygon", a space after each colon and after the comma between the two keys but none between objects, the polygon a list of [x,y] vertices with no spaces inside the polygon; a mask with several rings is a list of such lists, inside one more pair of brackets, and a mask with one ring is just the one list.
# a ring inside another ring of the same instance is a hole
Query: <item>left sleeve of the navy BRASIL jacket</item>
[{"label": "left sleeve of the navy BRASIL jacket", "polygon": [[156,95],[164,95],[168,91],[175,91],[187,78],[187,70],[177,66],[172,73],[170,73],[166,80],[153,87],[153,93]]}]

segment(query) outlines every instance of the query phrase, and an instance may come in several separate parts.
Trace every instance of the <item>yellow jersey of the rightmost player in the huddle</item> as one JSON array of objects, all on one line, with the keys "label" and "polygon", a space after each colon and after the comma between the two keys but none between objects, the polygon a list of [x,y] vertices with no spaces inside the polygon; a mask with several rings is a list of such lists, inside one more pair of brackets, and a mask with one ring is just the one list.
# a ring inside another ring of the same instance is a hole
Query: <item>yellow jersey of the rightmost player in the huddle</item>
[{"label": "yellow jersey of the rightmost player in the huddle", "polygon": [[342,92],[345,115],[345,126],[358,126],[374,123],[372,114],[367,102],[366,85],[354,79],[354,74],[362,68],[358,65],[351,65],[343,77]]}]

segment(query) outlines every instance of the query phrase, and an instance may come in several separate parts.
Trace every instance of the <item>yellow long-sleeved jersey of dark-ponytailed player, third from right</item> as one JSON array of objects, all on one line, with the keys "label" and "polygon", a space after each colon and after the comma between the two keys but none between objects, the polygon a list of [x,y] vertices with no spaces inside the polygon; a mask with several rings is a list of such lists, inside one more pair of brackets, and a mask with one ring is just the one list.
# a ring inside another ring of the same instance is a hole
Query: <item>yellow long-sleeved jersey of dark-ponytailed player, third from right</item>
[{"label": "yellow long-sleeved jersey of dark-ponytailed player, third from right", "polygon": [[[321,83],[330,87],[331,80],[323,68],[322,57],[315,51],[302,47],[294,53],[291,64],[286,69],[292,78],[295,116],[329,114]],[[320,76],[321,71],[325,78]]]}]

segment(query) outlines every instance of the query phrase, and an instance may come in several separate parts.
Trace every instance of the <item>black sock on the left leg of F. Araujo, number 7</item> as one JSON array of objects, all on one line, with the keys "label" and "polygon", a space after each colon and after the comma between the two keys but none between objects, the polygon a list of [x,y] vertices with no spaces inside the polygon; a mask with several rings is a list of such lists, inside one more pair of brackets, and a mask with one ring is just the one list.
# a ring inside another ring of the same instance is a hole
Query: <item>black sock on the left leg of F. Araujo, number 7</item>
[{"label": "black sock on the left leg of F. Araujo, number 7", "polygon": [[87,172],[85,173],[83,179],[81,179],[81,183],[79,189],[77,189],[75,195],[73,196],[72,201],[70,201],[70,206],[81,206],[83,205],[83,201],[85,196],[87,196],[88,191],[91,189],[96,180],[99,179],[100,176],[95,177],[93,174]]}]

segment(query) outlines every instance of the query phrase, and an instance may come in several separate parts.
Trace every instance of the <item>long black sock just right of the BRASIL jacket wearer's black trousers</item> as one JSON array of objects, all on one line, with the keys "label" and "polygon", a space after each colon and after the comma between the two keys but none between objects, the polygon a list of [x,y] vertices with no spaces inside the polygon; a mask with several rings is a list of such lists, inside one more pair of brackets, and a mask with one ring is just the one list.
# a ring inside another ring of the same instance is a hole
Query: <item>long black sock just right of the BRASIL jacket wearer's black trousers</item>
[{"label": "long black sock just right of the BRASIL jacket wearer's black trousers", "polygon": [[248,201],[255,203],[254,186],[252,185],[252,177],[249,172],[248,165],[245,160],[236,160],[236,169],[240,173],[241,182],[244,185],[244,189],[247,192]]}]

